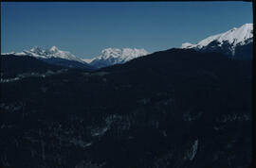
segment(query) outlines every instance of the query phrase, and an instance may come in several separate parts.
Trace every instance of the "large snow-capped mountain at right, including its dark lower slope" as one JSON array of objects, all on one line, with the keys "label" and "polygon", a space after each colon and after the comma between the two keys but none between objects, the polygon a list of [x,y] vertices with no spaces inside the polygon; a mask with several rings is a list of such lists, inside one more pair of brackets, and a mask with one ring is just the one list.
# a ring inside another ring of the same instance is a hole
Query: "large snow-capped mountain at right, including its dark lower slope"
[{"label": "large snow-capped mountain at right, including its dark lower slope", "polygon": [[202,52],[219,52],[234,59],[252,58],[253,25],[245,24],[227,32],[210,36],[201,42],[182,43],[181,48],[193,48]]}]

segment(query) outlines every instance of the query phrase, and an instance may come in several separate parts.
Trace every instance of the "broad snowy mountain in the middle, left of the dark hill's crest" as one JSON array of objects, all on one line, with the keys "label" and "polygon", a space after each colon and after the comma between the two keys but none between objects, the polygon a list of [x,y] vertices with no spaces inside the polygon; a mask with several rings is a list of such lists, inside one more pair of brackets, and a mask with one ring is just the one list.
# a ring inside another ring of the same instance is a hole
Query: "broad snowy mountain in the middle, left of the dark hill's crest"
[{"label": "broad snowy mountain in the middle, left of the dark hill's crest", "polygon": [[101,68],[105,66],[110,66],[114,64],[125,63],[131,59],[136,59],[141,56],[148,55],[145,49],[137,48],[106,48],[101,51],[101,56],[95,59],[84,59],[92,66]]}]

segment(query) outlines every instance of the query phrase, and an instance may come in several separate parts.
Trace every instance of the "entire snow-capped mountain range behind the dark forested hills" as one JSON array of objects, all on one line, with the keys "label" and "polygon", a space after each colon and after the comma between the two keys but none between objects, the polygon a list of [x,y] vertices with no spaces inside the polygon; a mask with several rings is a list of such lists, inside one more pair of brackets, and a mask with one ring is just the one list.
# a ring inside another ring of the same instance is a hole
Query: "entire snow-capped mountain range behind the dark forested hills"
[{"label": "entire snow-capped mountain range behind the dark forested hills", "polygon": [[[222,53],[232,59],[252,59],[252,35],[253,25],[245,24],[238,28],[234,27],[229,31],[210,36],[200,42],[192,44],[182,43],[182,49],[194,49],[199,52]],[[38,46],[21,53],[5,53],[2,55],[30,56],[42,59],[47,63],[62,65],[65,67],[84,68],[95,70],[115,64],[122,64],[131,59],[137,59],[149,55],[145,49],[137,48],[106,48],[101,55],[93,59],[80,59],[70,52],[59,50],[56,46],[49,49],[42,49]]]}]

